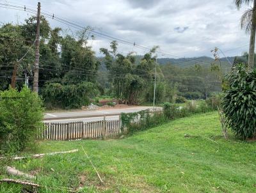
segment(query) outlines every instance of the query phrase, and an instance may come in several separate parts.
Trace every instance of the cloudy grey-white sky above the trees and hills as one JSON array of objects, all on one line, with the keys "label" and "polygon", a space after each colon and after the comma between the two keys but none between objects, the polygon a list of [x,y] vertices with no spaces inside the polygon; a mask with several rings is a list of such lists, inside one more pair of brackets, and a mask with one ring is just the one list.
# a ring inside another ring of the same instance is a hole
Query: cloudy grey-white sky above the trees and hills
[{"label": "cloudy grey-white sky above the trees and hills", "polygon": [[[240,28],[239,20],[246,6],[237,11],[233,0],[57,0],[40,1],[42,12],[54,13],[81,26],[114,36],[136,45],[159,45],[161,58],[211,56],[210,50],[220,47],[227,56],[236,56],[248,49],[249,36]],[[31,6],[37,1],[0,0],[0,3]],[[30,8],[30,7],[29,7]],[[22,22],[29,13],[0,7],[1,22]],[[49,19],[52,27],[60,26],[75,33],[76,29]],[[106,38],[90,40],[93,50],[108,47]],[[119,43],[123,54],[129,51],[144,54],[145,50]],[[174,55],[173,57],[171,55]]]}]

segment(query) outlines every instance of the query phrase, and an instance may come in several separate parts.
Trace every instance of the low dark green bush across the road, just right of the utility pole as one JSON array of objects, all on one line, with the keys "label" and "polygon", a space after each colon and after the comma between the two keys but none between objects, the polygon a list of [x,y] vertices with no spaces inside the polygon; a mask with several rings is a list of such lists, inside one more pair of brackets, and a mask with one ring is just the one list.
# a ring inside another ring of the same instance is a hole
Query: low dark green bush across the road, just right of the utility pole
[{"label": "low dark green bush across the road, just right of the utility pole", "polygon": [[99,94],[99,91],[92,82],[81,82],[77,85],[49,83],[42,91],[48,109],[52,107],[80,108],[83,105],[89,105],[90,98],[97,94]]}]

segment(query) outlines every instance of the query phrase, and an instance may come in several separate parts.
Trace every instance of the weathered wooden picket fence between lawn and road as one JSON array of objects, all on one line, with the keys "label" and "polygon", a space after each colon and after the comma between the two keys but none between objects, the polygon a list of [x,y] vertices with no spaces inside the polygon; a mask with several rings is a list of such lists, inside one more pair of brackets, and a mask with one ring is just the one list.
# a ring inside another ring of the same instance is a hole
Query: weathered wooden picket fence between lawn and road
[{"label": "weathered wooden picket fence between lawn and road", "polygon": [[119,120],[70,123],[44,123],[42,132],[38,132],[38,139],[49,140],[74,140],[74,139],[99,139],[117,137],[121,130]]}]

